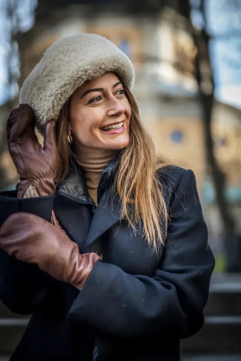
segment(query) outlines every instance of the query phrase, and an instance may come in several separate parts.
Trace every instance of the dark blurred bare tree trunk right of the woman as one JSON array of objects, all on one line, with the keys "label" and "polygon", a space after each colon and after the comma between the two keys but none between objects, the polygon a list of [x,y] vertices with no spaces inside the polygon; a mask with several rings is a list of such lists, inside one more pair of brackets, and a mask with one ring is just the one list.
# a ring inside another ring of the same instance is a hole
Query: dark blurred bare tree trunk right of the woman
[{"label": "dark blurred bare tree trunk right of the woman", "polygon": [[[204,1],[201,0],[201,12],[205,22]],[[225,199],[225,174],[221,171],[214,155],[214,142],[211,133],[212,108],[214,103],[214,80],[210,63],[208,45],[209,36],[203,29],[196,30],[190,20],[189,1],[179,2],[179,12],[188,19],[190,24],[190,34],[193,36],[197,47],[197,57],[195,60],[196,79],[199,86],[200,102],[202,106],[203,125],[205,130],[205,148],[208,172],[210,171],[216,193],[216,203],[224,227],[224,243],[227,252],[226,271],[241,271],[241,237],[237,234],[237,227]]]}]

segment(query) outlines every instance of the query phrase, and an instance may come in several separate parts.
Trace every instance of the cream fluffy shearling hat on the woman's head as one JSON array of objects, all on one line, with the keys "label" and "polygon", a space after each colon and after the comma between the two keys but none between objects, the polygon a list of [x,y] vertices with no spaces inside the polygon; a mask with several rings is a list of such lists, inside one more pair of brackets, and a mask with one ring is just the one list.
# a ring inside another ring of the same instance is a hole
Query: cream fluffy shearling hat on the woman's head
[{"label": "cream fluffy shearling hat on the woman's head", "polygon": [[77,34],[58,40],[44,53],[25,79],[20,103],[29,104],[36,129],[57,120],[65,101],[85,81],[114,71],[126,86],[133,87],[135,73],[130,59],[111,41],[96,34]]}]

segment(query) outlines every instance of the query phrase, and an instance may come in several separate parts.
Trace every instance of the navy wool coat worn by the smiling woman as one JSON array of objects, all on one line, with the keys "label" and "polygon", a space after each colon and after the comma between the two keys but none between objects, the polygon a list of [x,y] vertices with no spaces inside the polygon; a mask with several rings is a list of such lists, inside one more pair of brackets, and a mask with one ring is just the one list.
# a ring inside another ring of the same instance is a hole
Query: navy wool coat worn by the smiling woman
[{"label": "navy wool coat worn by the smiling woman", "polygon": [[158,171],[171,214],[158,255],[141,225],[134,233],[120,222],[120,199],[110,192],[116,161],[102,172],[97,207],[80,166],[55,195],[1,193],[0,225],[16,212],[51,221],[53,208],[81,253],[102,255],[78,291],[0,249],[0,299],[13,312],[31,314],[11,361],[177,361],[180,339],[202,327],[215,261],[193,171]]}]

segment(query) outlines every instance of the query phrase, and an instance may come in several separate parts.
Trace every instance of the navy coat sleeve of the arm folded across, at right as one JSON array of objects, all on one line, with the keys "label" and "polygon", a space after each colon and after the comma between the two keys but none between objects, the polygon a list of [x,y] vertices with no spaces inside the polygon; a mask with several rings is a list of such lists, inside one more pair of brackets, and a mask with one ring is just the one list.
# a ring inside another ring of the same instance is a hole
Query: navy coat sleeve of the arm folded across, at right
[{"label": "navy coat sleeve of the arm folded across, at right", "polygon": [[168,239],[154,277],[96,262],[69,311],[70,321],[117,337],[185,338],[202,327],[215,260],[193,171],[184,171],[173,198]]}]

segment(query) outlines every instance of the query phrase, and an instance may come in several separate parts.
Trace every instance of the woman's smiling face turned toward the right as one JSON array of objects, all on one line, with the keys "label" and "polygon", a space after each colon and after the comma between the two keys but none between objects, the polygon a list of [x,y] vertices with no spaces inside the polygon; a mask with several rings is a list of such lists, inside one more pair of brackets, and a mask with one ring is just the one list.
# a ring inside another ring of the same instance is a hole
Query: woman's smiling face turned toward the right
[{"label": "woman's smiling face turned toward the right", "polygon": [[123,86],[114,73],[85,82],[70,102],[69,129],[74,145],[89,152],[126,147],[130,115]]}]

